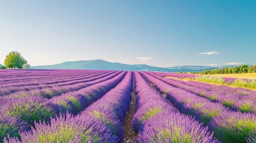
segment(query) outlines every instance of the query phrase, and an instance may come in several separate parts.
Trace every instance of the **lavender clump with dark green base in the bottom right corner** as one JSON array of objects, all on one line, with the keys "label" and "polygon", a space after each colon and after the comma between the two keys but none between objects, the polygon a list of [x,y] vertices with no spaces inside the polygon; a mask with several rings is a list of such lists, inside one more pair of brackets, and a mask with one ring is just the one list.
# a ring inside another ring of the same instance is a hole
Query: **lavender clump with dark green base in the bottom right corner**
[{"label": "lavender clump with dark green base in the bottom right corner", "polygon": [[226,111],[214,117],[208,126],[223,142],[255,142],[255,114]]}]

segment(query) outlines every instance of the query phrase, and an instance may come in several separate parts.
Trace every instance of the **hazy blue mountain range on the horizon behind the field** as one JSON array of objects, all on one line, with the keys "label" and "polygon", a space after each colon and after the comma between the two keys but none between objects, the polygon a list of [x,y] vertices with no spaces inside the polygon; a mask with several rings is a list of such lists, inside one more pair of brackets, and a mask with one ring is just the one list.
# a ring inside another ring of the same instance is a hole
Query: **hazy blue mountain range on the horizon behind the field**
[{"label": "hazy blue mountain range on the horizon behind the field", "polygon": [[179,72],[179,71],[203,71],[217,69],[216,67],[205,66],[178,66],[178,67],[153,67],[146,64],[121,64],[111,63],[104,60],[88,61],[66,61],[60,64],[48,66],[31,66],[30,69],[87,69],[87,70],[133,70],[133,71],[162,71],[162,72]]}]

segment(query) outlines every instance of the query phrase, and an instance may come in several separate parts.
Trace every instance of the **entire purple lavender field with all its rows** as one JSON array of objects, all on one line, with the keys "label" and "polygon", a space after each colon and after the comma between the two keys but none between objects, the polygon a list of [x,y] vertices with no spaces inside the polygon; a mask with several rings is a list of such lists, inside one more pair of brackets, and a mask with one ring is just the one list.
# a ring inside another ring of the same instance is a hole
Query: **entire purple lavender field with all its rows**
[{"label": "entire purple lavender field with all its rows", "polygon": [[0,70],[0,142],[256,142],[255,91],[166,76]]}]

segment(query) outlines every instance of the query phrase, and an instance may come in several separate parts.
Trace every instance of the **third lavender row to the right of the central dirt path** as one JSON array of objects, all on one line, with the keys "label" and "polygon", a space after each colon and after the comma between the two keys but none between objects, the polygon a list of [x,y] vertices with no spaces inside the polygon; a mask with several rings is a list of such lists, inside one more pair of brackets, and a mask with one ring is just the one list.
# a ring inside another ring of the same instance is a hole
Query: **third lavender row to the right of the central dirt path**
[{"label": "third lavender row to the right of the central dirt path", "polygon": [[[154,76],[154,74],[150,75]],[[243,88],[230,88],[228,86],[209,85],[207,83],[181,82],[180,80],[165,79],[156,75],[155,77],[177,88],[190,91],[211,101],[220,102],[226,107],[243,112],[256,113],[256,107],[254,106],[256,104],[255,91]]]}]

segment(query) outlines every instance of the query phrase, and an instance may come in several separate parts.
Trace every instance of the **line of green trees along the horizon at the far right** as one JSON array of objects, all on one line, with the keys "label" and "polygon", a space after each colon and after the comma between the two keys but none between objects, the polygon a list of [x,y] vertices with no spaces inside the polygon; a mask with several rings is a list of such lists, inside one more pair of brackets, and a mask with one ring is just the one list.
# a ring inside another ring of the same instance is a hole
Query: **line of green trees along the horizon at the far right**
[{"label": "line of green trees along the horizon at the far right", "polygon": [[255,72],[256,72],[256,65],[248,67],[246,64],[243,64],[242,66],[237,66],[233,68],[205,70],[205,71],[202,71],[201,74],[232,74],[232,73],[255,73]]}]

